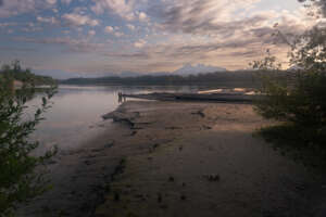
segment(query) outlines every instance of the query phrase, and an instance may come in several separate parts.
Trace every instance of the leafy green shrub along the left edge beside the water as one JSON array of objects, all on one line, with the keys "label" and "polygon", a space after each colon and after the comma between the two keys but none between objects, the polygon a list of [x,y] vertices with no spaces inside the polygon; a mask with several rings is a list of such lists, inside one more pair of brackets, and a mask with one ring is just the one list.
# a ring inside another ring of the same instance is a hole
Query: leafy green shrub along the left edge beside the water
[{"label": "leafy green shrub along the left edge beside the water", "polygon": [[[42,173],[35,168],[50,158],[54,151],[43,156],[33,156],[32,152],[39,145],[33,142],[29,136],[41,122],[42,113],[49,106],[49,99],[54,94],[54,89],[49,89],[42,98],[40,107],[33,117],[26,119],[25,94],[13,93],[8,84],[12,75],[20,74],[20,65],[4,66],[0,77],[0,216],[12,216],[18,203],[42,193],[48,186]],[[23,89],[22,92],[33,92],[33,89]]]}]

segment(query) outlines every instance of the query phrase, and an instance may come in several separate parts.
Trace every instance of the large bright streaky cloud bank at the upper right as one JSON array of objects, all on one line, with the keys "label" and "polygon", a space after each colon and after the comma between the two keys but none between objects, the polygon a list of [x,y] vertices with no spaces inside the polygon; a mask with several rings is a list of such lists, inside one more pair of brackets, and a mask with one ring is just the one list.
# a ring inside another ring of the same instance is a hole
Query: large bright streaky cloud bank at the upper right
[{"label": "large bright streaky cloud bank at the upper right", "polygon": [[[148,14],[159,21],[158,31],[183,37],[177,42],[166,39],[166,44],[156,47],[150,55],[206,58],[210,52],[225,52],[240,47],[261,53],[256,44],[278,44],[286,51],[285,38],[275,38],[273,34],[281,31],[283,36],[291,38],[311,26],[297,11],[249,13],[248,8],[253,8],[256,2],[259,0],[165,0],[159,4],[152,3]],[[277,28],[274,27],[276,22]],[[202,43],[199,37],[205,42]]]}]

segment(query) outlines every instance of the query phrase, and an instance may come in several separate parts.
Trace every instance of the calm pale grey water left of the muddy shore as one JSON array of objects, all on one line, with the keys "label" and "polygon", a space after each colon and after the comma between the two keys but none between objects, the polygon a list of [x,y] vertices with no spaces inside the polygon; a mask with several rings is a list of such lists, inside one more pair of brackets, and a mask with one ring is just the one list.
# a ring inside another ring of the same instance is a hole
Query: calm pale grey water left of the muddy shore
[{"label": "calm pale grey water left of the muddy shore", "polygon": [[[83,141],[104,130],[101,115],[118,106],[117,93],[197,92],[198,87],[85,87],[60,86],[51,99],[52,107],[32,139],[40,141],[40,149],[57,145],[60,150],[78,148]],[[28,102],[29,110],[41,103],[41,95]],[[105,124],[108,124],[106,120]]]}]

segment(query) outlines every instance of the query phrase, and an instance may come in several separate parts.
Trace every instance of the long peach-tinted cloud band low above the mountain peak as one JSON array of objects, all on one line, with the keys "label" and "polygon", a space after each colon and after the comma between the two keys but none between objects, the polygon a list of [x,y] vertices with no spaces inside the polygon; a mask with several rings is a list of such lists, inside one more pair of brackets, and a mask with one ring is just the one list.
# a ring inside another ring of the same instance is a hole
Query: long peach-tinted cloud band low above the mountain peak
[{"label": "long peach-tinted cloud band low above the mountain peak", "polygon": [[123,53],[112,52],[109,56],[121,61],[133,59],[137,62],[137,67],[142,71],[173,71],[185,62],[202,62],[237,69],[244,67],[252,60],[261,59],[267,48],[273,48],[283,56],[286,56],[288,51],[284,43],[273,46],[272,37],[259,38],[253,34],[217,41],[193,39],[193,41],[180,42],[168,37],[166,41],[147,44],[146,41],[139,40],[134,43],[134,47],[138,49],[136,53],[126,50]]}]

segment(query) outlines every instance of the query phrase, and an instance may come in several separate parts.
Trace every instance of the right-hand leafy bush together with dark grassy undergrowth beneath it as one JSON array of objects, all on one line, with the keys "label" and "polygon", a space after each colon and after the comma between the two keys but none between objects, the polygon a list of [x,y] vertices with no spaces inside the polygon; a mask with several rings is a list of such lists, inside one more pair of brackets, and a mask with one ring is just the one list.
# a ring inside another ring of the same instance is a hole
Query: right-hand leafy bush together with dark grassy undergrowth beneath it
[{"label": "right-hand leafy bush together with dark grassy undergrowth beneath it", "polygon": [[303,163],[322,165],[319,159],[326,159],[326,29],[314,27],[290,46],[290,64],[297,69],[281,71],[268,51],[252,64],[261,80],[256,112],[283,122],[260,133],[283,153],[300,153]]}]

